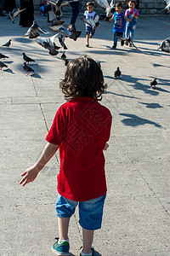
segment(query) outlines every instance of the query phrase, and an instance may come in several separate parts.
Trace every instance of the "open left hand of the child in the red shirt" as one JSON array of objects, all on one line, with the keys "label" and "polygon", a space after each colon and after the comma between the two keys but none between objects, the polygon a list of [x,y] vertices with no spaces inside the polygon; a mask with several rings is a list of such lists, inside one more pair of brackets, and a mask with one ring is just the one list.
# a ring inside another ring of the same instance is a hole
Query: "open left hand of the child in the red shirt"
[{"label": "open left hand of the child in the red shirt", "polygon": [[31,183],[37,177],[38,172],[39,171],[36,166],[31,166],[30,168],[26,169],[25,172],[20,174],[20,176],[24,176],[20,181],[20,185],[22,184],[24,187],[26,183]]}]

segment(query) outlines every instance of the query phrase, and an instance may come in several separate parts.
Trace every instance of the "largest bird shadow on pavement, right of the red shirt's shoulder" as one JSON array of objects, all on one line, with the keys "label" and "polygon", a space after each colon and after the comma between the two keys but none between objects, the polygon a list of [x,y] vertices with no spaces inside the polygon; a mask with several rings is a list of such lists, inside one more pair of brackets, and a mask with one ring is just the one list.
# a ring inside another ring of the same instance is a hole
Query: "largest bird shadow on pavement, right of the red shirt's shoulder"
[{"label": "largest bird shadow on pavement, right of the red shirt's shoulder", "polygon": [[161,128],[161,125],[156,124],[155,122],[150,121],[148,119],[142,119],[139,116],[137,116],[136,114],[132,114],[132,113],[119,113],[119,115],[127,117],[126,119],[122,119],[122,123],[124,125],[127,125],[127,126],[136,127],[136,126],[139,126],[139,125],[149,124],[149,125],[155,125],[157,128]]}]

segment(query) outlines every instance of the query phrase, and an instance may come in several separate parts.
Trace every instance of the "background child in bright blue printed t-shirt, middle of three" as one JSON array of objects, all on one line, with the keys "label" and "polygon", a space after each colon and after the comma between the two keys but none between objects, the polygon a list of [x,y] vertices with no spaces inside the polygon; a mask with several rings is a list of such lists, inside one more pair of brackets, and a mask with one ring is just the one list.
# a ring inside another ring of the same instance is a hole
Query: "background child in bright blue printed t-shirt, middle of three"
[{"label": "background child in bright blue printed t-shirt, middle of three", "polygon": [[122,38],[122,34],[125,30],[126,20],[124,18],[124,14],[122,13],[122,3],[118,2],[116,3],[116,12],[111,17],[111,20],[113,20],[113,29],[112,32],[113,35],[113,41],[114,44],[112,46],[112,49],[116,49],[117,40],[118,37]]}]

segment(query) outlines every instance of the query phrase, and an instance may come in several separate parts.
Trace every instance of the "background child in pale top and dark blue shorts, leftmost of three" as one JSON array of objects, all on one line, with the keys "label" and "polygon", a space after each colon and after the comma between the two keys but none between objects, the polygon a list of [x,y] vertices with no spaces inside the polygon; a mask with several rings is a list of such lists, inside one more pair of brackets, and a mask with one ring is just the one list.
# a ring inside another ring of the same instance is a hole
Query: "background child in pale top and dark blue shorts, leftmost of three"
[{"label": "background child in pale top and dark blue shorts, leftmost of three", "polygon": [[[88,2],[86,4],[87,10],[84,12],[84,16],[86,19],[95,19],[95,15],[96,12],[94,12],[94,3],[93,2]],[[89,47],[89,38],[92,38],[94,36],[94,31],[92,26],[89,26],[86,23],[86,32],[87,32],[87,36],[86,36],[86,46]]]}]

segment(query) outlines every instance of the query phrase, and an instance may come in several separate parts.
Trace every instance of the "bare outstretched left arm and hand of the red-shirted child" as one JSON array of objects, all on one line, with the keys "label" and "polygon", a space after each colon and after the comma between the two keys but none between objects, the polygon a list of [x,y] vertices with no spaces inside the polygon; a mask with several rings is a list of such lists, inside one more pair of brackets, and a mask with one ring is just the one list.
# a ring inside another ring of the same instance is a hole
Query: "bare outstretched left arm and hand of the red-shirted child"
[{"label": "bare outstretched left arm and hand of the red-shirted child", "polygon": [[37,160],[37,163],[34,166],[31,166],[30,168],[26,169],[25,172],[20,174],[21,176],[23,176],[23,178],[20,181],[20,184],[22,184],[22,186],[25,186],[26,183],[31,183],[37,177],[38,172],[42,170],[43,166],[45,166],[48,163],[48,160],[52,158],[52,156],[55,154],[58,148],[58,145],[47,143],[47,145],[42,151],[40,158]]}]

